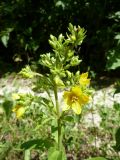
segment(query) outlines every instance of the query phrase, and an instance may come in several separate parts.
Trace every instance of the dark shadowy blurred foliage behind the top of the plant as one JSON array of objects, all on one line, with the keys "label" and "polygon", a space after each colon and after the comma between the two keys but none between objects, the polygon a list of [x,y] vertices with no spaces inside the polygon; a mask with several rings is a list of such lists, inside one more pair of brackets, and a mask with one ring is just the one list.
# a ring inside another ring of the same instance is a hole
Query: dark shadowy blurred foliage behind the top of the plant
[{"label": "dark shadowy blurred foliage behind the top of the plant", "polygon": [[81,67],[101,72],[120,67],[119,0],[7,0],[0,2],[0,57],[30,63],[49,52],[49,34],[66,32],[69,23],[87,30]]}]

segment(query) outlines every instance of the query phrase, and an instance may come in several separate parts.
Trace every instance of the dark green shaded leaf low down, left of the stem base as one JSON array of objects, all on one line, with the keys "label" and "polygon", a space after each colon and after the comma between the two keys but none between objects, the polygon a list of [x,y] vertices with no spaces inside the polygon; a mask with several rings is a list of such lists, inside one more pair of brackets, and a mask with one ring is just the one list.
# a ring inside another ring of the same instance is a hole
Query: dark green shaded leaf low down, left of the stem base
[{"label": "dark green shaded leaf low down, left of the stem base", "polygon": [[35,149],[44,149],[47,148],[49,149],[52,145],[52,140],[49,139],[34,139],[34,140],[29,140],[27,142],[24,142],[21,145],[22,149],[30,149],[30,148],[35,148]]}]

